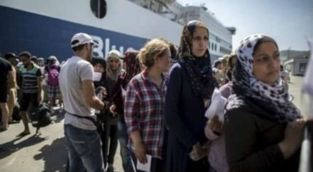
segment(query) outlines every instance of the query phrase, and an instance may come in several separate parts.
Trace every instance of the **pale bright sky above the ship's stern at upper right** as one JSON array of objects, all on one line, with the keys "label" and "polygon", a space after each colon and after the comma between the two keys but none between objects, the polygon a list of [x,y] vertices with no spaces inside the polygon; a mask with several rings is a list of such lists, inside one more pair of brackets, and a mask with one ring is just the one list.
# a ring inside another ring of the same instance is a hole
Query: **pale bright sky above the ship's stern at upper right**
[{"label": "pale bright sky above the ship's stern at upper right", "polygon": [[313,41],[313,0],[177,0],[185,6],[205,3],[226,27],[236,27],[233,50],[245,37],[262,33],[274,38],[280,50],[309,50]]}]

